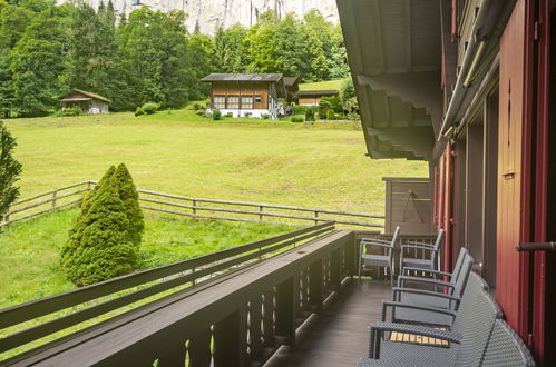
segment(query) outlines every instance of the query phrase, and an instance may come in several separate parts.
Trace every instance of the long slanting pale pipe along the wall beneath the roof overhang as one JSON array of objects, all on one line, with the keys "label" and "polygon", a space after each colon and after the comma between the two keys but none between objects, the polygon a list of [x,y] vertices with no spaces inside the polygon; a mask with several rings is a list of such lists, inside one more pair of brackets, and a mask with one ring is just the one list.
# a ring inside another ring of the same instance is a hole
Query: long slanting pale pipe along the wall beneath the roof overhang
[{"label": "long slanting pale pipe along the wall beneath the roof overhang", "polygon": [[485,20],[487,19],[487,14],[491,8],[491,4],[492,0],[482,0],[480,4],[479,12],[477,13],[477,19],[475,20],[475,24],[471,31],[474,36],[471,37],[471,42],[469,43],[466,54],[464,56],[461,70],[458,76],[458,80],[456,81],[456,88],[453,89],[453,95],[450,98],[450,103],[448,105],[448,109],[446,110],[446,115],[442,120],[442,127],[440,128],[437,141],[440,141],[445,132],[449,128],[451,128],[449,125],[451,125],[456,112],[461,106],[461,101],[464,100],[467,92],[466,89],[472,82],[475,70],[477,69],[477,65],[479,63],[479,60],[488,42],[488,34],[482,34],[481,31],[484,29]]}]

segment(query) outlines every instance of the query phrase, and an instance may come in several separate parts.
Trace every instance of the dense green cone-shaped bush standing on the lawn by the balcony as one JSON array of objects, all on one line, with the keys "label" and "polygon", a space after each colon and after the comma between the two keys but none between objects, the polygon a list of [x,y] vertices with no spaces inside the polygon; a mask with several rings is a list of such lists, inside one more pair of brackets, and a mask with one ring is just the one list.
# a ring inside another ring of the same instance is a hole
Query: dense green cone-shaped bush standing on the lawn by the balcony
[{"label": "dense green cone-shaped bush standing on the lawn by the balcony", "polygon": [[124,165],[108,169],[86,196],[60,264],[79,287],[130,272],[136,266],[143,214]]}]

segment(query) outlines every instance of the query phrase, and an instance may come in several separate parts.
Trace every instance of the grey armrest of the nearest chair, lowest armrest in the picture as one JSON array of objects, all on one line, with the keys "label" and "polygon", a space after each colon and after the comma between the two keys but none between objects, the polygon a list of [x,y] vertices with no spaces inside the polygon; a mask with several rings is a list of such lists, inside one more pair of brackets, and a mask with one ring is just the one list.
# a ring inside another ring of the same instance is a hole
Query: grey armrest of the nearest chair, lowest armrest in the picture
[{"label": "grey armrest of the nearest chair, lowest armrest in the picture", "polygon": [[[403,334],[412,334],[420,335],[429,338],[436,338],[441,340],[447,340],[449,343],[460,344],[462,340],[462,336],[453,333],[439,330],[435,328],[418,326],[418,325],[408,325],[408,324],[393,324],[393,323],[374,323],[370,326],[370,358],[380,358],[380,341],[382,339],[382,334],[384,331],[388,333],[403,333]],[[400,341],[402,343],[402,341]]]}]

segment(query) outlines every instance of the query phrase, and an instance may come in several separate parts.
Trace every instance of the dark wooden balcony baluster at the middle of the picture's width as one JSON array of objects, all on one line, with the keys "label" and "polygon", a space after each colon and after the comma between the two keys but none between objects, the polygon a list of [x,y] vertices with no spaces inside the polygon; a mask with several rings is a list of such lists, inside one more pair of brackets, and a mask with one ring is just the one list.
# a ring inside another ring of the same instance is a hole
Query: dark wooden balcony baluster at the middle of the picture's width
[{"label": "dark wooden balcony baluster at the middle of the picture's width", "polygon": [[276,287],[276,336],[283,337],[285,345],[295,346],[295,297],[294,277]]}]

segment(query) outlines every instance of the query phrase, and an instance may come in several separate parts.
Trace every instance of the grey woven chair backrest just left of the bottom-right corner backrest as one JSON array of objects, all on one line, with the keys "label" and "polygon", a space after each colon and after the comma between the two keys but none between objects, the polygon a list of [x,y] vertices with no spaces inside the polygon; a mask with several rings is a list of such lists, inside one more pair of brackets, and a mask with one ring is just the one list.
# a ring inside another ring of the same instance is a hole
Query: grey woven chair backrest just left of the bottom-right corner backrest
[{"label": "grey woven chair backrest just left of the bottom-right corner backrest", "polygon": [[501,318],[501,310],[492,297],[484,289],[476,294],[472,311],[462,325],[461,344],[455,348],[455,366],[480,365],[498,318]]}]

